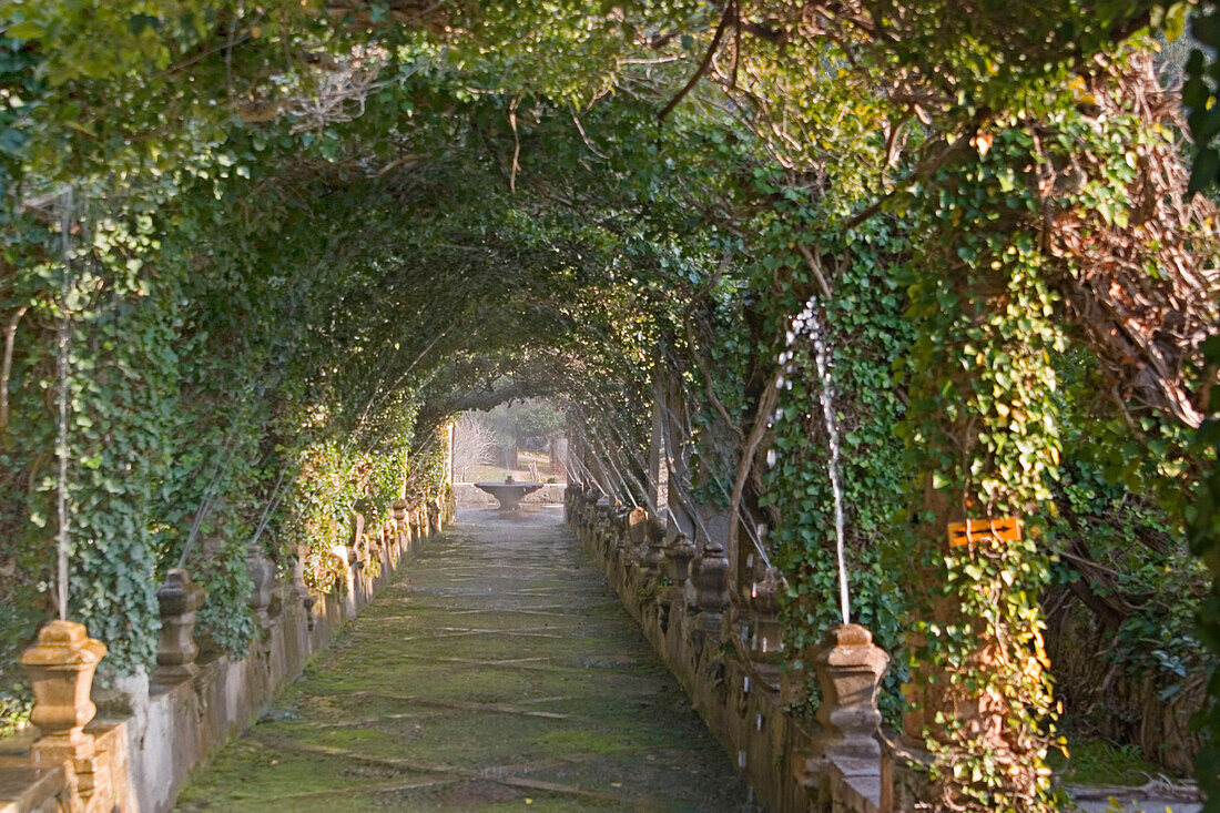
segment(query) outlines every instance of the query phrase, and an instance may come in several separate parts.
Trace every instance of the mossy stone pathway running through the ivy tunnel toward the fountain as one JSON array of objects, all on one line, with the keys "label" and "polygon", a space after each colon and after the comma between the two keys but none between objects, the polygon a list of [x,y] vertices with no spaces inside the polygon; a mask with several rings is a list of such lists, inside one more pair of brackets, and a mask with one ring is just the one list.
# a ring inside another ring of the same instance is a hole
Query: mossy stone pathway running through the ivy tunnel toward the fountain
[{"label": "mossy stone pathway running through the ivy tunnel toward the fountain", "polygon": [[748,811],[558,509],[468,509],[179,811]]}]

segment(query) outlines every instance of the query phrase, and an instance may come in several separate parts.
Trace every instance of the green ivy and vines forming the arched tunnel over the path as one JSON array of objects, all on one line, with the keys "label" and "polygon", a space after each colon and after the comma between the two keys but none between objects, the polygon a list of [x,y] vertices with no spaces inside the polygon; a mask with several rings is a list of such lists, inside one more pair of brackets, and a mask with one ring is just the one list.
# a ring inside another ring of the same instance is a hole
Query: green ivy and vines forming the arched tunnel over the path
[{"label": "green ivy and vines forming the arched tunnel over the path", "polygon": [[[1093,645],[1166,691],[1204,667],[1182,494],[1214,459],[1215,217],[1148,56],[1182,9],[959,5],[6,6],[0,697],[52,612],[61,492],[111,669],[149,664],[179,560],[238,652],[248,548],[304,546],[328,588],[351,511],[440,494],[464,409],[567,397],[647,502],[658,382],[677,499],[747,518],[808,659],[841,619],[806,310],[853,618],[904,656],[889,719],[946,803],[1053,804],[1041,598],[1109,607]],[[1019,544],[946,546],[1008,516]],[[953,724],[983,707],[1002,730]]]}]

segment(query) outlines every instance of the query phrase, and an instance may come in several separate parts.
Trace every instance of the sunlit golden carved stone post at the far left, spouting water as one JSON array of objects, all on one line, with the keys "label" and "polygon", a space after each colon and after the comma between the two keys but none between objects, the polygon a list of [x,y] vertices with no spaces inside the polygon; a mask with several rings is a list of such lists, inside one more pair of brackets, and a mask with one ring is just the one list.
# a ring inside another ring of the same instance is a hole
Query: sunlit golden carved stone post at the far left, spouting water
[{"label": "sunlit golden carved stone post at the far left, spouting water", "polygon": [[40,735],[30,758],[40,768],[67,763],[71,809],[88,809],[94,791],[98,754],[84,726],[98,713],[89,693],[105,654],[106,646],[90,638],[83,624],[57,620],[43,626],[21,657],[34,690],[30,720]]}]

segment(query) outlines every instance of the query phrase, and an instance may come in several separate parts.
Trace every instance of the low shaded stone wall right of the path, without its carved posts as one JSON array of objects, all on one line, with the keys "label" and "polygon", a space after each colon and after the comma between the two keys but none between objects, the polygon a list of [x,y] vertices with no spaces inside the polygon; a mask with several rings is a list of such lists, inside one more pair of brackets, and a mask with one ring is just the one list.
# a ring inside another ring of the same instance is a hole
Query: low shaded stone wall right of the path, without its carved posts
[{"label": "low shaded stone wall right of the path, without its carved posts", "polygon": [[747,642],[755,638],[742,634],[759,619],[731,603],[727,584],[723,601],[715,597],[706,576],[722,573],[712,562],[722,551],[691,543],[683,549],[681,538],[649,533],[645,526],[655,520],[643,509],[628,511],[575,485],[567,490],[565,518],[723,743],[731,764],[771,811],[878,812],[880,759],[828,754],[816,720],[784,712],[773,653],[759,656]]}]

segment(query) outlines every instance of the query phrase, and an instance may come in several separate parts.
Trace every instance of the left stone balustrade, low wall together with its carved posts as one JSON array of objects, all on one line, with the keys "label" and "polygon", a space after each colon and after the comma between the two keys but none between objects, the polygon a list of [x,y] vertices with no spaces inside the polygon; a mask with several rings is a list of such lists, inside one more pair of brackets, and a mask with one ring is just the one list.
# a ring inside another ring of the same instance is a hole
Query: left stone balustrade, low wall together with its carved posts
[{"label": "left stone balustrade, low wall together with its carved posts", "polygon": [[[393,510],[393,524],[368,535],[372,547],[366,548],[366,558],[376,555],[384,566],[364,588],[356,544],[338,544],[328,552],[344,577],[322,596],[311,593],[305,582],[310,552],[304,546],[296,551],[290,580],[278,584],[262,549],[251,549],[255,585],[249,605],[261,635],[240,658],[200,654],[194,631],[204,591],[185,570],[170,570],[157,590],[156,669],[143,686],[134,681],[121,712],[120,704],[96,712],[90,699],[105,646],[72,621],[44,626],[22,657],[34,687],[34,728],[0,741],[0,812],[168,811],[190,770],[255,719],[274,692],[300,674],[310,657],[418,551],[427,535],[422,531],[429,519],[427,509],[417,509],[418,536],[409,530],[412,520],[405,505]],[[433,530],[453,519],[451,507],[436,504],[433,511]],[[354,515],[349,540],[355,543],[362,536],[364,518]]]}]

